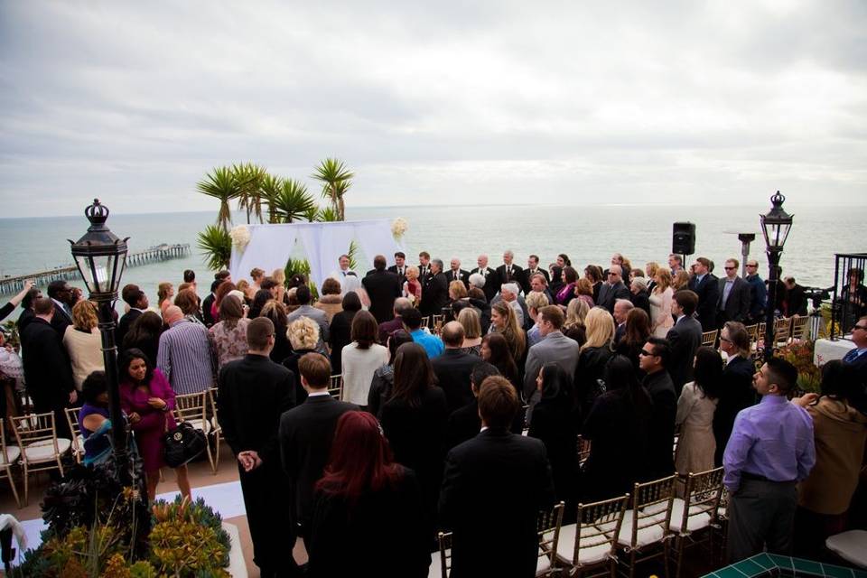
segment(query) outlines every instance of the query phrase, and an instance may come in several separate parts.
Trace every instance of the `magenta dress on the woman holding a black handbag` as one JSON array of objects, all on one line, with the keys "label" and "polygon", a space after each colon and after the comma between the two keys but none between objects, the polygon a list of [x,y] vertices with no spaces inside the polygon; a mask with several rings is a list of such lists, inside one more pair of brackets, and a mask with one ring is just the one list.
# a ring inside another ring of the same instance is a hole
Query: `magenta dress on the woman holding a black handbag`
[{"label": "magenta dress on the woman holding a black handbag", "polygon": [[[159,397],[168,404],[167,411],[155,409],[147,405],[148,397]],[[154,473],[165,465],[163,461],[163,433],[168,424],[169,430],[176,426],[172,409],[174,409],[174,391],[160,370],[154,368],[154,377],[150,387],[135,387],[128,379],[120,384],[120,406],[126,415],[135,412],[142,419],[131,424],[135,432],[135,444],[144,462],[144,472]]]}]

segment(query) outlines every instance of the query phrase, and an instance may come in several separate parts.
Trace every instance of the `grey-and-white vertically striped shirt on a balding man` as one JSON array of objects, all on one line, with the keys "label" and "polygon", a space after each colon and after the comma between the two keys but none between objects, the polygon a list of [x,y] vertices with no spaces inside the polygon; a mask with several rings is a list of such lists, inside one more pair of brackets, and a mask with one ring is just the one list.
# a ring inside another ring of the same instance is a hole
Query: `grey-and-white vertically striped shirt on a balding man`
[{"label": "grey-and-white vertically striped shirt on a balding man", "polygon": [[182,319],[160,336],[156,367],[176,394],[214,387],[214,354],[204,325]]}]

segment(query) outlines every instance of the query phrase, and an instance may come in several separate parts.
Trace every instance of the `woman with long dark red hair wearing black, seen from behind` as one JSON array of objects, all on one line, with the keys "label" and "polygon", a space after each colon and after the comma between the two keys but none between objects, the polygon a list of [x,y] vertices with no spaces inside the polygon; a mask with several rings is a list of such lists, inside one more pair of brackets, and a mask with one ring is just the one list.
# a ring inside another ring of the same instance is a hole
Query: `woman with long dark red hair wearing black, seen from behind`
[{"label": "woman with long dark red hair wearing black, seen from behind", "polygon": [[341,415],[316,482],[307,575],[427,576],[424,517],[415,473],[392,461],[377,418]]}]

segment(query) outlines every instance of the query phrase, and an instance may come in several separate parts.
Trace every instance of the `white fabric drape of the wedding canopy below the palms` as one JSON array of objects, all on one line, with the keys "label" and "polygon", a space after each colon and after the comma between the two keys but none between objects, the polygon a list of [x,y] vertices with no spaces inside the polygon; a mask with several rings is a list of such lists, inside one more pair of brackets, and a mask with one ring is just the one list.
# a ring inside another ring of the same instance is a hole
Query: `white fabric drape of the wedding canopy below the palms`
[{"label": "white fabric drape of the wedding canopy below the palms", "polygon": [[401,244],[392,237],[389,219],[338,221],[329,223],[291,223],[286,225],[248,225],[250,242],[243,253],[232,247],[229,265],[232,278],[249,278],[254,267],[270,275],[283,268],[293,255],[296,241],[303,245],[303,255],[310,263],[311,281],[317,287],[338,268],[338,258],[349,251],[350,241],[359,247],[371,263],[359,263],[359,277],[372,268],[376,255],[386,256],[388,265],[394,265],[395,252]]}]

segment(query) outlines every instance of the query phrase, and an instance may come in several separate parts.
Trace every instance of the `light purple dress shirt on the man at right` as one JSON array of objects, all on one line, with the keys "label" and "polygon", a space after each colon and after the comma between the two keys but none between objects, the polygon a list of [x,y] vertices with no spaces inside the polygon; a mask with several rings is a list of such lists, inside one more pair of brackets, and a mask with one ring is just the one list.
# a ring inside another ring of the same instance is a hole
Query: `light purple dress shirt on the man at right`
[{"label": "light purple dress shirt on the man at right", "polygon": [[722,483],[730,492],[741,487],[748,472],[771,481],[800,481],[816,463],[813,420],[803,407],[783,396],[763,396],[742,409],[725,446]]}]

